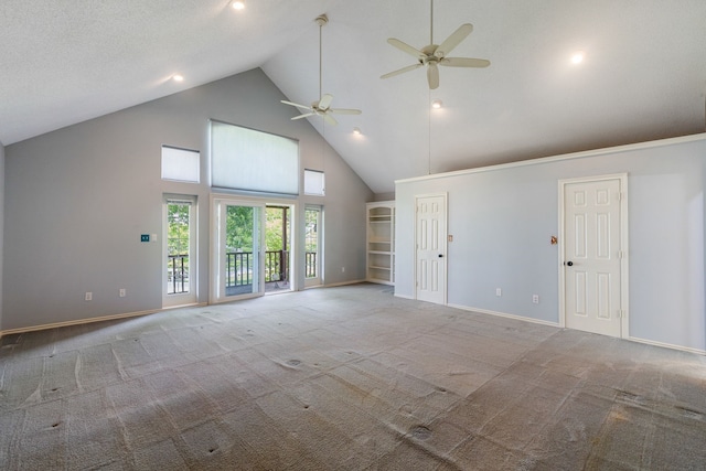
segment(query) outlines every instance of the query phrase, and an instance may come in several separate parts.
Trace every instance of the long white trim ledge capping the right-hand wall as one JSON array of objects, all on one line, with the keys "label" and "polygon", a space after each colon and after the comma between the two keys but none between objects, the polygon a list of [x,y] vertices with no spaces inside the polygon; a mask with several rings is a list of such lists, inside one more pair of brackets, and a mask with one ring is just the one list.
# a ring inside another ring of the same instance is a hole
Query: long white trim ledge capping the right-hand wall
[{"label": "long white trim ledge capping the right-hand wall", "polygon": [[395,184],[422,182],[427,180],[445,179],[448,176],[468,175],[468,174],[481,173],[481,172],[492,172],[495,170],[504,170],[504,169],[512,169],[515,167],[527,167],[527,165],[536,165],[542,163],[558,162],[561,160],[585,159],[588,157],[598,157],[598,156],[607,156],[611,153],[628,152],[628,151],[634,151],[634,150],[653,149],[657,147],[674,146],[678,143],[687,143],[687,142],[694,142],[699,140],[706,140],[706,132],[702,132],[698,135],[691,135],[691,136],[682,136],[677,138],[648,141],[648,142],[638,142],[638,143],[631,143],[625,146],[616,146],[616,147],[609,147],[605,149],[587,150],[582,152],[564,153],[559,156],[543,157],[538,159],[527,159],[527,160],[522,160],[520,162],[500,163],[496,165],[479,167],[475,169],[457,170],[453,172],[435,173],[431,175],[424,175],[424,176],[414,176],[410,179],[395,180]]}]

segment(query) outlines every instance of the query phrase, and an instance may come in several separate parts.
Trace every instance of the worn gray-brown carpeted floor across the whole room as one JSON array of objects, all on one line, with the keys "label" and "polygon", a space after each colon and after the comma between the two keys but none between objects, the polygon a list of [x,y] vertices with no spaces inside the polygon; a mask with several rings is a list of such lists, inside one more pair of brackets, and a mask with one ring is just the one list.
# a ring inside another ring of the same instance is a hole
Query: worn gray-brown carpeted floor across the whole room
[{"label": "worn gray-brown carpeted floor across the whole room", "polygon": [[3,470],[704,470],[706,358],[357,285],[0,341]]}]

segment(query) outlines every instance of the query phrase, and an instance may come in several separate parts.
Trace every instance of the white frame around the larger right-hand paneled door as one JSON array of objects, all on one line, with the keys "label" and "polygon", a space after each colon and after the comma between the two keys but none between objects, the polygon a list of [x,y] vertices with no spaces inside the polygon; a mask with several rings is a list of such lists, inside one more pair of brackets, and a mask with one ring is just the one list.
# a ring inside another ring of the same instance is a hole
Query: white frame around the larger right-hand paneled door
[{"label": "white frame around the larger right-hand paneled door", "polygon": [[630,285],[628,277],[629,269],[629,214],[628,214],[628,173],[612,173],[607,175],[592,175],[592,176],[579,176],[573,179],[561,179],[558,181],[558,256],[557,256],[557,270],[559,274],[559,327],[566,328],[566,267],[564,266],[564,254],[566,249],[566,221],[565,221],[565,205],[564,197],[566,194],[566,186],[573,183],[591,183],[605,180],[618,180],[620,181],[620,339],[630,338],[630,320],[629,320],[629,298],[630,298]]}]

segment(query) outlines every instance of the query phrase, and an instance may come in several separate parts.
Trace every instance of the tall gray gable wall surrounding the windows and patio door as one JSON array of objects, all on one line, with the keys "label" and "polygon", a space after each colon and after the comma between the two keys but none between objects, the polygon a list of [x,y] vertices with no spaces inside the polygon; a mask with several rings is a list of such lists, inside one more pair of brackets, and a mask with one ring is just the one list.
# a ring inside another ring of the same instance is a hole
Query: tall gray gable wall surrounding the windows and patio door
[{"label": "tall gray gable wall surrounding the windows and patio door", "polygon": [[[373,194],[280,99],[257,68],[8,146],[2,329],[160,309],[163,193],[199,197],[199,300],[207,300],[210,118],[299,139],[302,168],[321,169],[325,150],[327,196],[295,202],[324,206],[325,282],[364,279]],[[162,181],[162,144],[201,150],[202,183]]]}]

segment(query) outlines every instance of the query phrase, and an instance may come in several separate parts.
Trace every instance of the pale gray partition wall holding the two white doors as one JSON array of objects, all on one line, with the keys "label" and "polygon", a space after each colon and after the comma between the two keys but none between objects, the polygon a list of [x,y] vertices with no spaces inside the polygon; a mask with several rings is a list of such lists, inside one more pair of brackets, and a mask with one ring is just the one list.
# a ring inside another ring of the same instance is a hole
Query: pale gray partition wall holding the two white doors
[{"label": "pale gray partition wall holding the two white doors", "polygon": [[397,182],[396,295],[415,296],[415,195],[448,192],[448,302],[558,322],[557,182],[627,172],[630,336],[705,351],[706,136],[627,149]]}]

